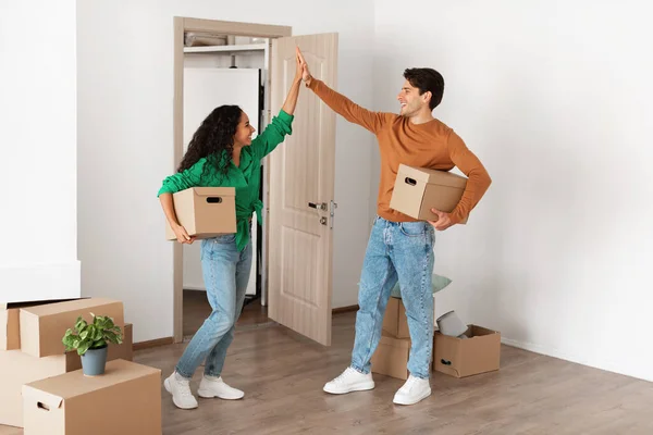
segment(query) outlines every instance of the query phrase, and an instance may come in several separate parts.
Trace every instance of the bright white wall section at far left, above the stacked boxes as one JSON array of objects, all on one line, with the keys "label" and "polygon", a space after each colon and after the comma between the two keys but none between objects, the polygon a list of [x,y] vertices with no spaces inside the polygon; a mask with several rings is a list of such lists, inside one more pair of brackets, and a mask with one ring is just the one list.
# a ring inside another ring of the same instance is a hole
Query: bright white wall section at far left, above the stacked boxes
[{"label": "bright white wall section at far left, above the stacked boxes", "polygon": [[75,1],[0,3],[0,302],[79,296]]}]

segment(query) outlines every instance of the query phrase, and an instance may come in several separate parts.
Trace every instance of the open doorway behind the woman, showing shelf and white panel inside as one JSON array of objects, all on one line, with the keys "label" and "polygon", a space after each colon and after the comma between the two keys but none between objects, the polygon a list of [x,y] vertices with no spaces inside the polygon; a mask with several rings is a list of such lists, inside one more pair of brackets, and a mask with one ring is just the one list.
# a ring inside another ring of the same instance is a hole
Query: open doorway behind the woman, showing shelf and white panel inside
[{"label": "open doorway behind the woman, showing shelf and white panel inside", "polygon": [[[236,104],[249,115],[255,135],[267,125],[266,76],[269,71],[268,38],[184,34],[184,152],[204,119],[215,107]],[[261,166],[264,179],[264,165]],[[264,200],[262,190],[259,199]],[[254,261],[239,323],[267,322],[262,299],[262,228],[252,216]],[[202,276],[200,244],[183,247],[184,339],[189,339],[210,314]]]}]

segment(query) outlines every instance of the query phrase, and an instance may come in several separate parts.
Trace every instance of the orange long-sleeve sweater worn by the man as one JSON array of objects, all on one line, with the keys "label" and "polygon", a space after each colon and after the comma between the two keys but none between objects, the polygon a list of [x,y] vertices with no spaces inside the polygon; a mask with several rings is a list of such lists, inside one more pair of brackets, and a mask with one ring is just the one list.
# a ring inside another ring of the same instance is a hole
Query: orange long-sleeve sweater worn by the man
[{"label": "orange long-sleeve sweater worn by the man", "polygon": [[481,200],[492,183],[488,171],[463,139],[439,120],[414,124],[394,113],[372,112],[352,102],[345,96],[312,78],[310,89],[333,111],[377,136],[381,151],[381,182],[377,213],[392,222],[415,222],[416,219],[390,208],[399,163],[451,171],[457,166],[467,175],[467,187],[458,206],[452,211],[453,223],[460,223]]}]

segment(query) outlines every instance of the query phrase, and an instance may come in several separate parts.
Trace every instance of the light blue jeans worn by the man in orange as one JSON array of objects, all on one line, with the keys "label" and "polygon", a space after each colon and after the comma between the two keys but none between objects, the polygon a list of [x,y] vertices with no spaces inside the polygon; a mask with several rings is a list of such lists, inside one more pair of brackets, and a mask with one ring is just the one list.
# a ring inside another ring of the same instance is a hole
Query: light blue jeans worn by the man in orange
[{"label": "light blue jeans worn by the man in orange", "polygon": [[411,375],[429,378],[433,352],[433,245],[435,233],[428,222],[390,222],[377,217],[370,234],[356,314],[352,368],[369,373],[370,359],[381,339],[385,307],[399,282],[410,330]]}]

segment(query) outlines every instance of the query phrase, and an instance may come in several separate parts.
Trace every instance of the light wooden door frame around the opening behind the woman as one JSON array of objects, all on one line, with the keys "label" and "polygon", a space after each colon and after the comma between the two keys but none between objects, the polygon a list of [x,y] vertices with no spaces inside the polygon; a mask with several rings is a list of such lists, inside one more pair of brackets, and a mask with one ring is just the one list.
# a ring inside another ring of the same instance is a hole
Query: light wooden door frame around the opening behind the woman
[{"label": "light wooden door frame around the opening behind the woman", "polygon": [[[259,38],[282,38],[293,36],[291,26],[278,26],[270,24],[239,23],[217,20],[190,18],[175,16],[174,18],[174,98],[173,98],[173,156],[174,167],[184,157],[184,34],[186,32],[199,32],[209,34],[225,34],[234,36],[255,36]],[[270,101],[271,73],[268,71],[266,77],[266,99]],[[269,120],[268,114],[268,122]],[[173,169],[174,172],[174,169]],[[269,178],[269,172],[266,171]],[[267,179],[263,181],[267,187]],[[269,191],[266,188],[263,195],[266,204],[269,204]],[[264,210],[263,222],[267,222],[269,211]],[[264,246],[268,246],[268,226],[263,225]],[[268,276],[268,251],[263,250],[262,266],[263,277]],[[184,339],[184,250],[181,244],[174,244],[173,248],[173,333],[174,343]],[[267,294],[267,279],[261,283],[262,293]]]}]

